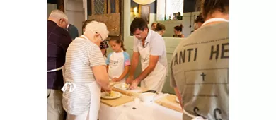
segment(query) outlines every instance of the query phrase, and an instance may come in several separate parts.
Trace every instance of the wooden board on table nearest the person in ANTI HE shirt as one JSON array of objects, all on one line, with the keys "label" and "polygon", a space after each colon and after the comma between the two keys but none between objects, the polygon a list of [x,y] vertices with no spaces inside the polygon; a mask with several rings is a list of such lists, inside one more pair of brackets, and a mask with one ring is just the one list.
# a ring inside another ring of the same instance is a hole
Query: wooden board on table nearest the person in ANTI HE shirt
[{"label": "wooden board on table nearest the person in ANTI HE shirt", "polygon": [[167,107],[178,112],[183,112],[182,108],[180,107],[180,104],[176,102],[176,95],[168,95],[159,100],[156,100],[155,102],[163,107]]}]

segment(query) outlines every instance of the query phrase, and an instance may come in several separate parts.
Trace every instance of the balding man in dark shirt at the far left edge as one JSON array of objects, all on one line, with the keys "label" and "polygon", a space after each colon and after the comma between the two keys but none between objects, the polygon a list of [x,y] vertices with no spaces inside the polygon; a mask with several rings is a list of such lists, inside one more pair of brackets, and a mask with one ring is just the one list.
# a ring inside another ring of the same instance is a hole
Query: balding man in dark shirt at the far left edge
[{"label": "balding man in dark shirt at the far left edge", "polygon": [[48,18],[48,48],[47,48],[47,101],[48,120],[62,120],[64,109],[62,108],[62,91],[64,85],[62,66],[65,63],[65,54],[71,37],[67,32],[68,18],[59,10],[54,10]]}]

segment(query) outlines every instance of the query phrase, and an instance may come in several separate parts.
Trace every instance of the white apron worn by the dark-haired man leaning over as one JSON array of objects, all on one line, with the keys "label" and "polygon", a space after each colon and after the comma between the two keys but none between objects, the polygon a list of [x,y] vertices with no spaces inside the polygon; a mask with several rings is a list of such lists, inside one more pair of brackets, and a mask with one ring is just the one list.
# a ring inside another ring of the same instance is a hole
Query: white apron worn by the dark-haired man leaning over
[{"label": "white apron worn by the dark-haired man leaning over", "polygon": [[[142,71],[149,66],[149,44],[146,45],[146,48],[142,48],[141,45],[138,45],[139,54],[141,56]],[[167,74],[167,67],[157,62],[154,71],[151,71],[144,80],[141,82],[141,87],[148,88],[150,90],[156,90],[156,92],[161,92],[163,85],[165,83]]]}]

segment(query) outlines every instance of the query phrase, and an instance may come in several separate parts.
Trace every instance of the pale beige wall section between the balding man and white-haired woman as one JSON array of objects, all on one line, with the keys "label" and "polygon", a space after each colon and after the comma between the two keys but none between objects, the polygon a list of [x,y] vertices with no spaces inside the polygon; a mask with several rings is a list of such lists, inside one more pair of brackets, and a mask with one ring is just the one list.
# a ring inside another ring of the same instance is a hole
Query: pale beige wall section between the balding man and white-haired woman
[{"label": "pale beige wall section between the balding man and white-haired woman", "polygon": [[78,28],[79,35],[82,34],[82,22],[84,21],[83,1],[64,0],[64,13],[69,19],[69,23]]}]

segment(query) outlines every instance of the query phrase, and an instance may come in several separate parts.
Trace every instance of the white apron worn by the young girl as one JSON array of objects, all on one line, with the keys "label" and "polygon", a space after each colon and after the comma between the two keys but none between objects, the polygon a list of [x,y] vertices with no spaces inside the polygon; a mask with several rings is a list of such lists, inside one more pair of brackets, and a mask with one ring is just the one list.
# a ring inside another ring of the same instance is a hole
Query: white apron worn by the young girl
[{"label": "white apron worn by the young girl", "polygon": [[[108,65],[108,76],[109,78],[119,78],[122,73],[125,71],[125,57],[124,51],[118,53],[113,53],[109,58],[110,62]],[[122,83],[125,83],[125,78],[121,80]]]}]

